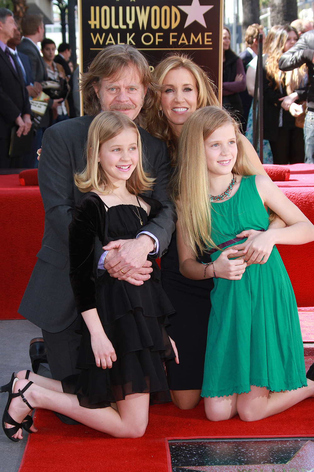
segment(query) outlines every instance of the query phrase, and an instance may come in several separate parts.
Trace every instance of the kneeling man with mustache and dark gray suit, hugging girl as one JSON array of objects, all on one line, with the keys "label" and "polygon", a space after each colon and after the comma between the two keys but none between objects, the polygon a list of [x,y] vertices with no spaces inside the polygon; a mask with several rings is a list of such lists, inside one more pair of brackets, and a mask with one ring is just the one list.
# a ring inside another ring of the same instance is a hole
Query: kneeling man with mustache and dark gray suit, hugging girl
[{"label": "kneeling man with mustache and dark gray suit, hugging girl", "polygon": [[[81,197],[73,172],[85,167],[89,125],[101,110],[119,110],[138,120],[143,104],[150,107],[157,99],[156,87],[152,85],[148,63],[139,51],[129,45],[108,46],[97,54],[83,76],[82,93],[88,115],[57,123],[45,131],[38,168],[45,231],[19,312],[42,329],[54,379],[75,372],[79,346],[75,333],[77,311],[69,279],[68,226],[72,208]],[[115,242],[117,247],[106,255],[98,241],[96,251],[99,269],[105,266],[113,277],[134,285],[149,278],[147,255],[159,257],[164,253],[176,219],[166,193],[169,176],[166,145],[141,127],[139,132],[144,170],[155,178],[153,191],[146,195],[159,200],[163,210],[143,227],[137,239]]]}]

